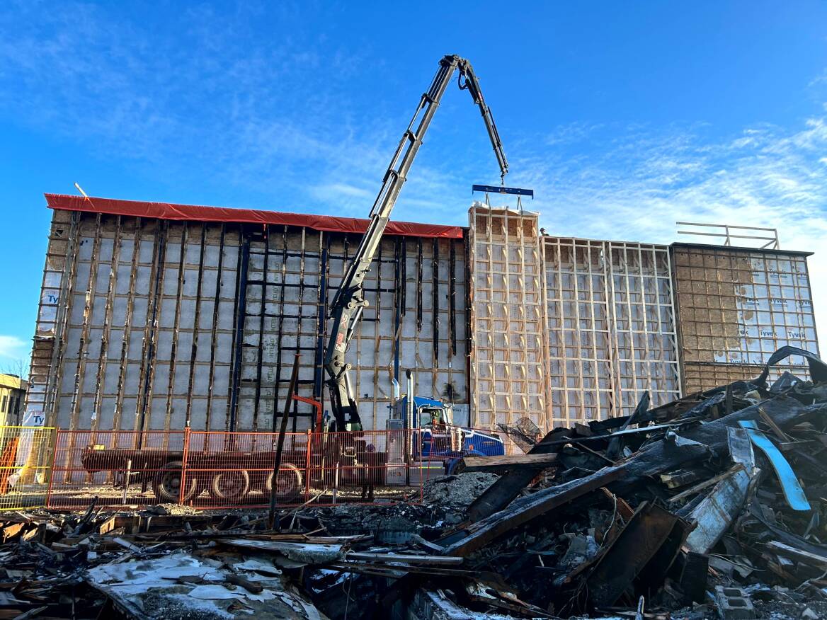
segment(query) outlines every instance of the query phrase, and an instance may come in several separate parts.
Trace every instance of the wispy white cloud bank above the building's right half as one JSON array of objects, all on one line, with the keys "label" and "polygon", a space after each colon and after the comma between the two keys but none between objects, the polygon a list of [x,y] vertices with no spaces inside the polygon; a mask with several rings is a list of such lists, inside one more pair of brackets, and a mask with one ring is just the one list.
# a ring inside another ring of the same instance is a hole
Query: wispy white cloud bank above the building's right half
[{"label": "wispy white cloud bank above the building's right half", "polygon": [[827,316],[827,119],[748,127],[725,140],[705,126],[613,127],[588,140],[599,155],[543,150],[514,165],[537,189],[533,208],[552,234],[669,243],[681,220],[777,228],[782,249],[815,252],[816,317]]}]

